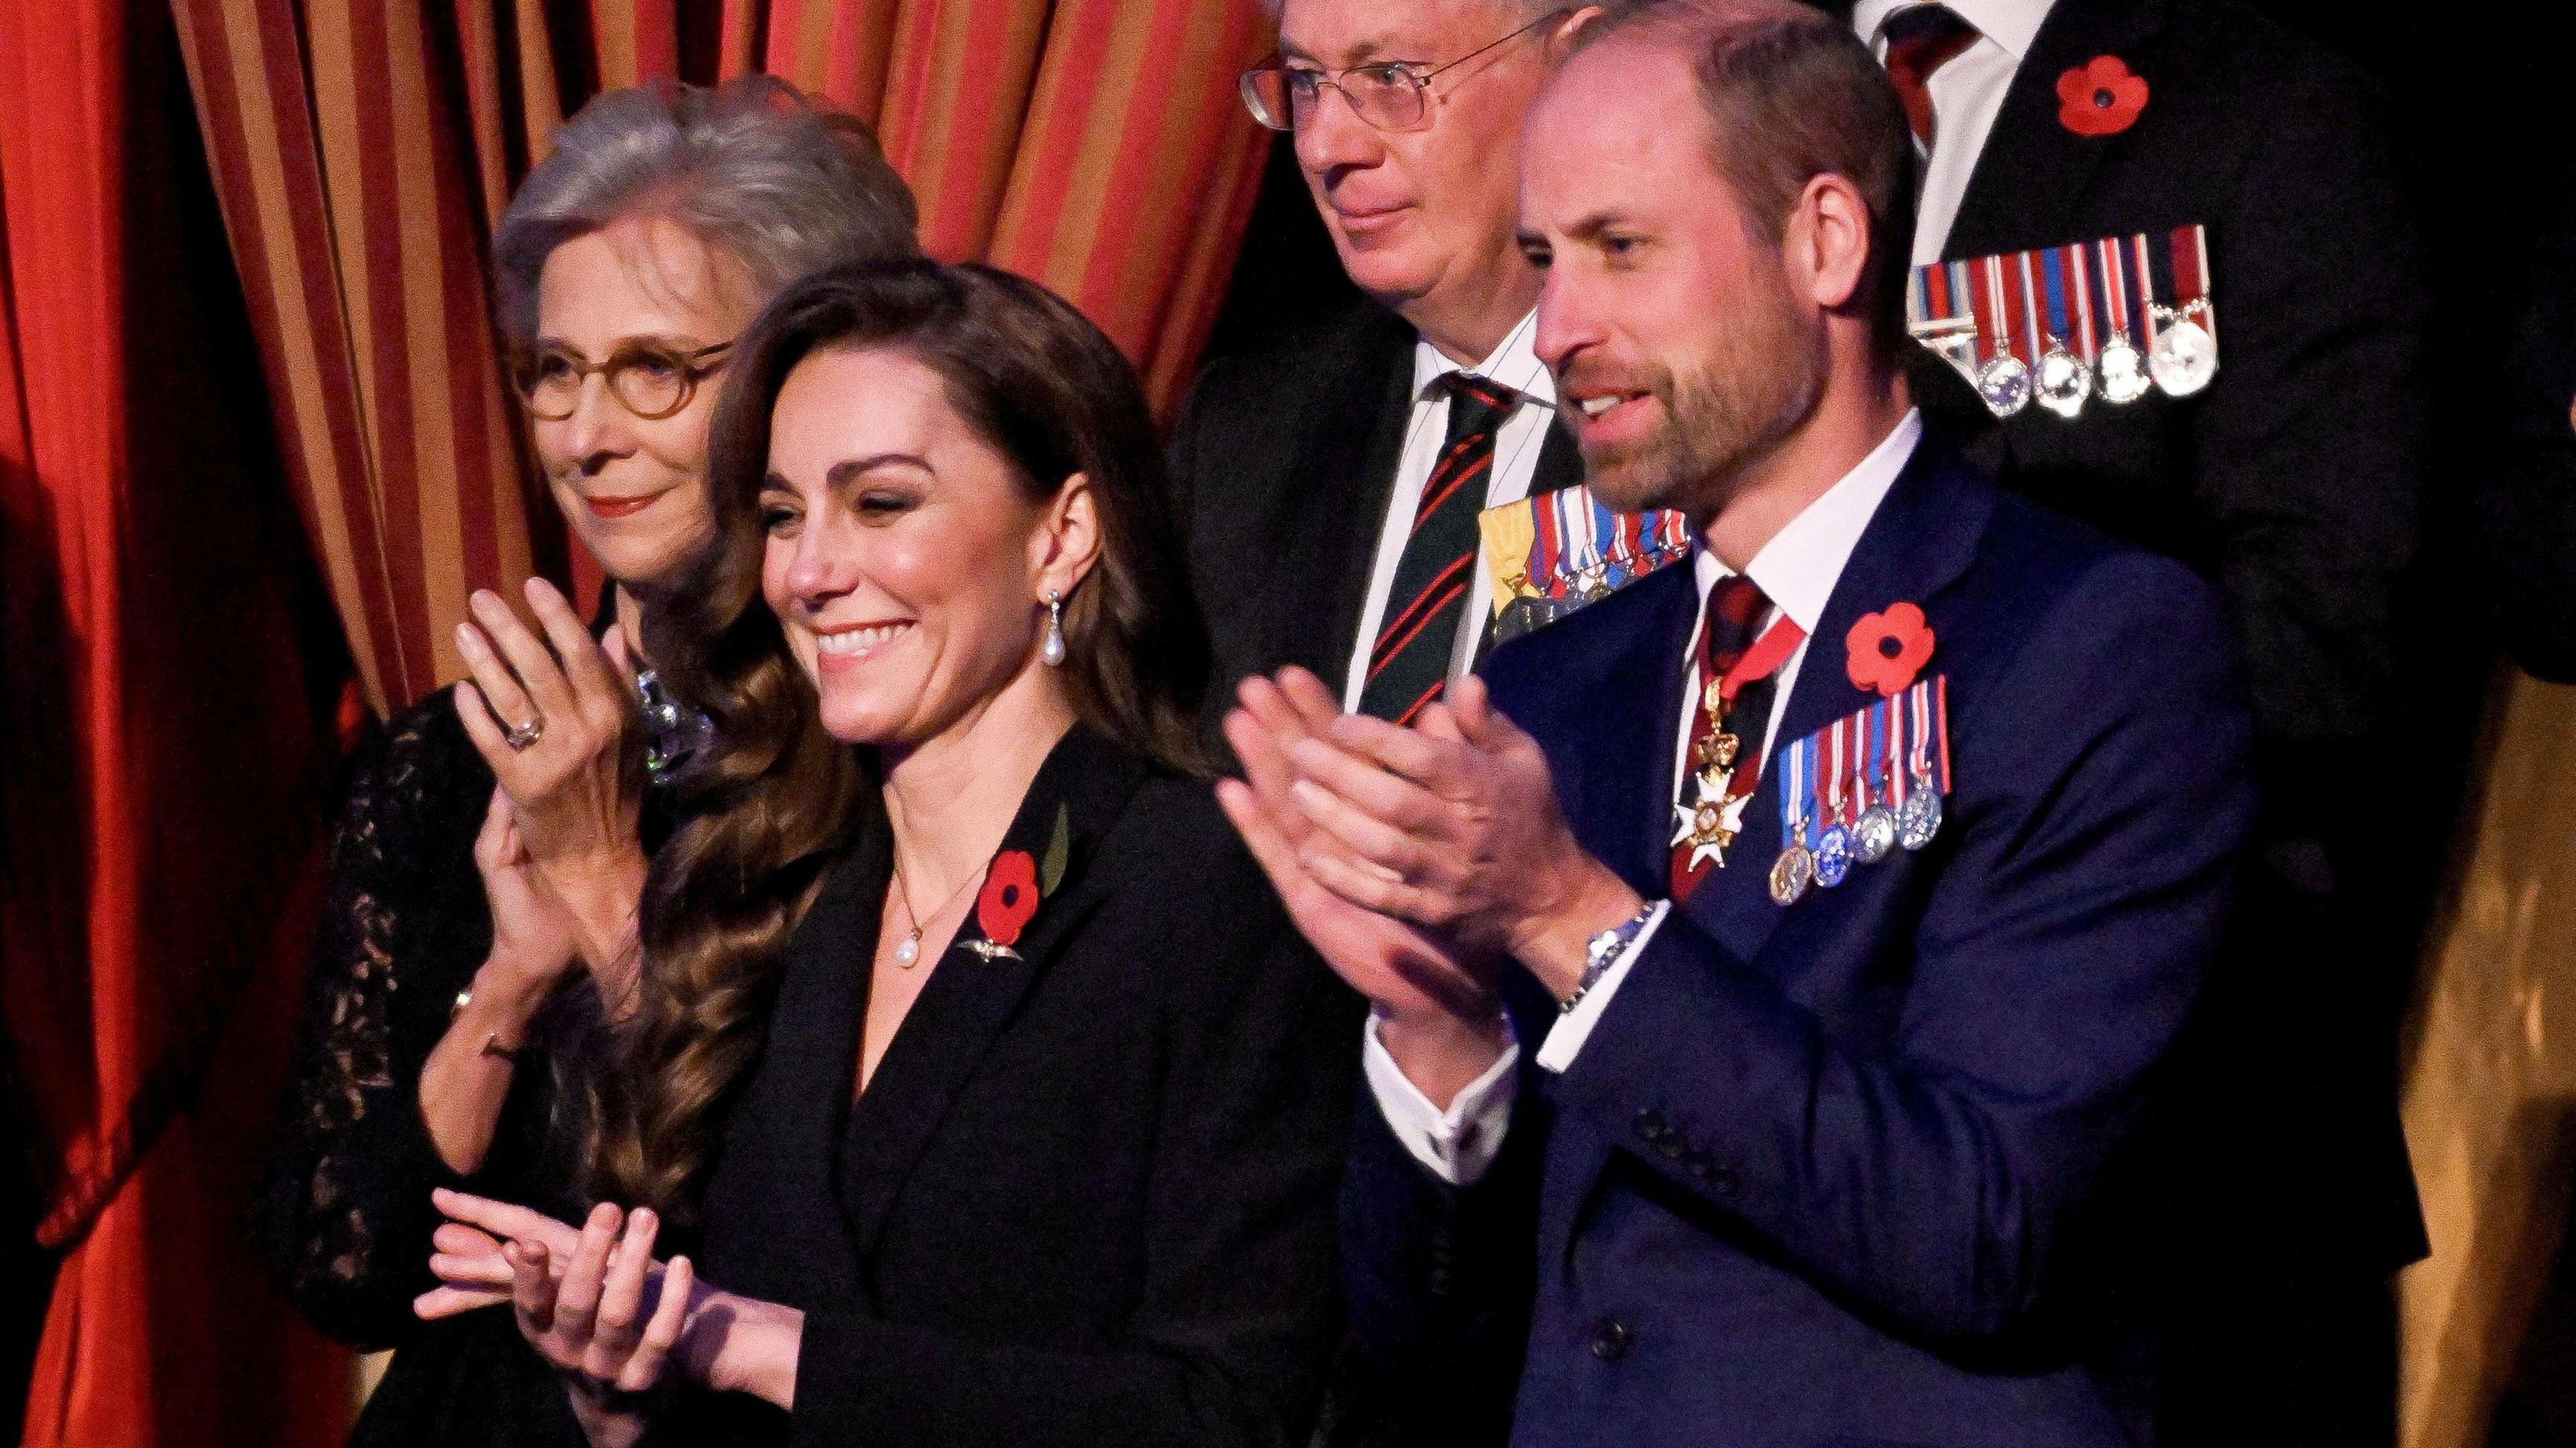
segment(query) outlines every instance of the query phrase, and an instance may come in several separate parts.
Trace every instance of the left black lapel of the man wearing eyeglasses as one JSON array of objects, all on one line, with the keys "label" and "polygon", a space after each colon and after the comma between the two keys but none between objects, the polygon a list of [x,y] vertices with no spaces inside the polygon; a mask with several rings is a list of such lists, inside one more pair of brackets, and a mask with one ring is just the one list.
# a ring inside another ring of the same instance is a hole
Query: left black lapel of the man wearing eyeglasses
[{"label": "left black lapel of the man wearing eyeglasses", "polygon": [[1319,389],[1311,415],[1316,430],[1285,469],[1298,523],[1280,538],[1270,580],[1283,605],[1267,657],[1303,665],[1340,693],[1414,415],[1414,330],[1388,312],[1350,368]]}]

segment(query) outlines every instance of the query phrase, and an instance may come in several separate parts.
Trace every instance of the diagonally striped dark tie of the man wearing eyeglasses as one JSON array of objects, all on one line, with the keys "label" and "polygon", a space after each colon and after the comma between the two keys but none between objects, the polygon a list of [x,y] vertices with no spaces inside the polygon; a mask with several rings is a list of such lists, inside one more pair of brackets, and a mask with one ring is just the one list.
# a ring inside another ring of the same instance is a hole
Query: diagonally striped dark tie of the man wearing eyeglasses
[{"label": "diagonally striped dark tie of the man wearing eyeglasses", "polygon": [[1360,714],[1396,724],[1412,724],[1448,685],[1458,624],[1476,585],[1476,515],[1494,472],[1494,433],[1520,405],[1510,386],[1466,371],[1448,374],[1437,386],[1450,392],[1448,441],[1422,484],[1414,531],[1386,590],[1386,621],[1368,647],[1368,683],[1360,685]]}]

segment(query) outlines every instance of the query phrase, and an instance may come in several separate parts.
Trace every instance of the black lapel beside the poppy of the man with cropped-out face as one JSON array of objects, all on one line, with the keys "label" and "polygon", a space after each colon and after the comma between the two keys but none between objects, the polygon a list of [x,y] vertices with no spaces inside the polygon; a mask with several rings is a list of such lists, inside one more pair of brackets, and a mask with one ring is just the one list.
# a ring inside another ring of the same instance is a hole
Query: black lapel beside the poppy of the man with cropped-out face
[{"label": "black lapel beside the poppy of the man with cropped-out face", "polygon": [[[2146,41],[2164,23],[2164,0],[2058,0],[2004,90],[1986,149],[1968,175],[1942,258],[1981,258],[2094,237],[2069,234],[2102,157],[2128,142],[2079,137],[2058,124],[2058,77],[2115,54],[2154,85]],[[2148,103],[2154,111],[2154,103]]]}]

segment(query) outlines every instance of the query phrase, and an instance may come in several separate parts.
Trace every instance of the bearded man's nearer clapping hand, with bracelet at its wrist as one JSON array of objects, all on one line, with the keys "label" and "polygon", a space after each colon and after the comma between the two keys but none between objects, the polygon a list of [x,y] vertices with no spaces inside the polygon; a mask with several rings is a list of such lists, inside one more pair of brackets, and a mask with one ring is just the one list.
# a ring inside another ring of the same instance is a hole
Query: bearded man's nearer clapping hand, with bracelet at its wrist
[{"label": "bearded man's nearer clapping hand, with bracelet at its wrist", "polygon": [[1306,876],[1468,953],[1507,953],[1556,997],[1582,982],[1584,943],[1643,904],[1574,840],[1548,757],[1479,678],[1412,729],[1340,714],[1285,757],[1316,824],[1298,843]]}]

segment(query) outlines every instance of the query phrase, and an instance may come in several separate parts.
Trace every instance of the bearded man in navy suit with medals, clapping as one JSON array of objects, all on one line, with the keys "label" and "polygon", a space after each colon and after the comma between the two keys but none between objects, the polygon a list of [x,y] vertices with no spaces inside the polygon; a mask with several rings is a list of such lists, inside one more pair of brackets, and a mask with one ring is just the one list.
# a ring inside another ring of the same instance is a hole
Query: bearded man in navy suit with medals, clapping
[{"label": "bearded man in navy suit with medals, clapping", "polygon": [[1538,350],[1695,567],[1414,727],[1296,670],[1226,721],[1376,1007],[1345,1270],[1425,1440],[2154,1440],[2249,719],[2187,569],[1924,435],[1906,144],[1798,5],[1595,31],[1522,147]]}]

